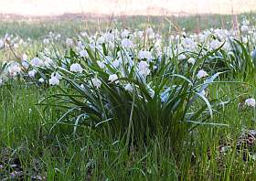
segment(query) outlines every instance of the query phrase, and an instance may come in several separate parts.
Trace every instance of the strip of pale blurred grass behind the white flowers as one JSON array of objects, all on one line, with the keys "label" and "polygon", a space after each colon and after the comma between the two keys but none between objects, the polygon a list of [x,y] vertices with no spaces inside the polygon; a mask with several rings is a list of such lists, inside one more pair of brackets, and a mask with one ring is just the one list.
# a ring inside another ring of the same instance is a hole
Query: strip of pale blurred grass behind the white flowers
[{"label": "strip of pale blurred grass behind the white flowers", "polygon": [[[238,22],[244,17],[254,20],[255,13],[245,13],[237,16]],[[198,32],[208,28],[231,28],[234,16],[231,15],[195,15],[195,16],[107,16],[87,17],[68,16],[68,18],[17,18],[10,20],[4,18],[0,22],[0,36],[6,33],[22,38],[40,39],[48,33],[60,33],[66,37],[72,37],[80,31],[87,30],[91,33],[104,31],[110,28],[144,29],[153,27],[157,32],[168,34],[181,31],[185,28],[188,32]]]}]

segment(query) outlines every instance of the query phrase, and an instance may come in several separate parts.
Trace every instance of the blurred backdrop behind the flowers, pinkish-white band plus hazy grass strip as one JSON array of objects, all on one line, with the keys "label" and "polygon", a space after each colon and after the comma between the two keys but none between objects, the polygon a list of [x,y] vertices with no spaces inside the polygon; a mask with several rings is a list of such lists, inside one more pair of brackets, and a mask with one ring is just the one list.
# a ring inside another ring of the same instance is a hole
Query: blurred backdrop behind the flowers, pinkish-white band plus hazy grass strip
[{"label": "blurred backdrop behind the flowers, pinkish-white band plus hazy grass strip", "polygon": [[[0,37],[72,37],[80,31],[144,29],[171,34],[255,22],[256,0],[0,0]],[[33,25],[33,26],[32,26]]]}]

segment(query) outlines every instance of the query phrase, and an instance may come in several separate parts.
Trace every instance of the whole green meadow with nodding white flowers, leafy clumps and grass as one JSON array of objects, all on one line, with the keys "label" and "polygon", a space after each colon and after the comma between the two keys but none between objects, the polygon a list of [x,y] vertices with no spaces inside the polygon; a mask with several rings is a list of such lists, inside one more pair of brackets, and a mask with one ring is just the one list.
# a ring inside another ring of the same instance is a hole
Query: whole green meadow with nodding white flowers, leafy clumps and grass
[{"label": "whole green meadow with nodding white flowers, leafy clumps and grass", "polygon": [[255,17],[3,22],[0,179],[255,180]]}]

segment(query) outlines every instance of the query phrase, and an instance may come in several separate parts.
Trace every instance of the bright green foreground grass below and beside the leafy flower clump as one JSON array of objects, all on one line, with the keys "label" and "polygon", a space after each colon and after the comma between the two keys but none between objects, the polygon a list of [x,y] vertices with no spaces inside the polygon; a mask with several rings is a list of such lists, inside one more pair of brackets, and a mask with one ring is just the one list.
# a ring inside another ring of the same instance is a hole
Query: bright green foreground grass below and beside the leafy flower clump
[{"label": "bright green foreground grass below and beside the leafy flower clump", "polygon": [[[228,97],[236,97],[241,91],[255,95],[243,85],[210,89],[215,96],[220,96],[217,94],[221,91]],[[199,126],[196,133],[186,138],[191,144],[184,144],[178,155],[173,155],[172,145],[161,136],[127,152],[122,141],[82,127],[73,134],[72,126],[59,124],[49,133],[49,122],[58,120],[60,111],[51,108],[46,112],[37,105],[45,94],[50,91],[18,84],[1,89],[1,160],[8,160],[10,172],[16,170],[12,165],[22,165],[26,179],[46,176],[48,180],[253,180],[256,177],[254,161],[245,162],[243,155],[235,153],[242,129],[255,127],[255,121],[251,120],[253,112],[251,115],[235,112],[237,101],[213,119],[229,126]],[[229,151],[220,154],[219,147],[225,145],[230,146]],[[7,175],[5,172],[0,176]]]}]

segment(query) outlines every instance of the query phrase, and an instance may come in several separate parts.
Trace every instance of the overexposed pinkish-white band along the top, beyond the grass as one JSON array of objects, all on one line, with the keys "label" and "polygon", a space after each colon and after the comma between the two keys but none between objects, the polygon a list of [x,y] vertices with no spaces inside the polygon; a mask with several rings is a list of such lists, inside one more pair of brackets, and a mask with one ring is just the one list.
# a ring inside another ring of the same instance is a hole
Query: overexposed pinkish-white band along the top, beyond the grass
[{"label": "overexposed pinkish-white band along the top, beyond the grass", "polygon": [[256,0],[0,0],[0,14],[5,16],[225,15],[255,10]]}]

